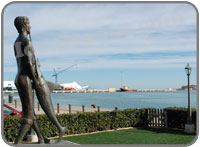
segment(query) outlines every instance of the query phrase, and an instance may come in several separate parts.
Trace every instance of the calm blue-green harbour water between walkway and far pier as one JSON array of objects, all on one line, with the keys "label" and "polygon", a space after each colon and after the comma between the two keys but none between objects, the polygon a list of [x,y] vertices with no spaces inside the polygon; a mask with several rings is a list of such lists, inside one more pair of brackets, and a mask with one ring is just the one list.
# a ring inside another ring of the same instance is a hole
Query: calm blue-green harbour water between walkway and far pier
[{"label": "calm blue-green harbour water between walkway and far pier", "polygon": [[[19,100],[18,94],[13,94],[14,99]],[[128,109],[128,108],[166,108],[186,107],[188,105],[187,90],[175,92],[105,92],[105,93],[52,93],[54,105],[91,107],[92,104],[101,108]],[[8,94],[4,94],[8,101]],[[37,98],[35,98],[37,103]],[[197,107],[197,91],[190,92],[190,103],[192,108]]]}]

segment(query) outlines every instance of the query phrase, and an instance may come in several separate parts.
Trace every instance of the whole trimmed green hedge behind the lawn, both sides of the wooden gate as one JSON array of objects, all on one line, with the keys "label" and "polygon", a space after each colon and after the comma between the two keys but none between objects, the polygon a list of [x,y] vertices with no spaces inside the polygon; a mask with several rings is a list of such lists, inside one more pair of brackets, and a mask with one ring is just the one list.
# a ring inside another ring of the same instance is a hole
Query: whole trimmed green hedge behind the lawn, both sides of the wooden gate
[{"label": "whole trimmed green hedge behind the lawn, both sides of the wooden gate", "polygon": [[[166,108],[168,127],[183,128],[186,122],[186,108]],[[126,109],[111,112],[85,112],[59,114],[57,118],[62,126],[72,123],[65,134],[89,133],[124,127],[147,127],[147,109]],[[41,132],[46,137],[58,136],[57,128],[46,115],[37,115]],[[13,142],[17,136],[20,117],[4,118],[4,136]],[[196,111],[193,110],[193,122],[196,124]]]}]

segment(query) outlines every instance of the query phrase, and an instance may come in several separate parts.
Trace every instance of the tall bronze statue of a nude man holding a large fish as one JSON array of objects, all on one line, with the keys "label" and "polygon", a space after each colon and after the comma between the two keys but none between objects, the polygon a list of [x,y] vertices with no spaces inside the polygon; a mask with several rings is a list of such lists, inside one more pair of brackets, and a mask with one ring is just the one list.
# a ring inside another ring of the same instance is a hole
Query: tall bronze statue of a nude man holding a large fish
[{"label": "tall bronze statue of a nude man holding a large fish", "polygon": [[[32,95],[33,88],[36,91],[36,95],[42,109],[52,123],[58,128],[59,141],[61,141],[67,127],[62,127],[56,118],[50,97],[50,90],[54,87],[54,85],[45,81],[39,69],[38,61],[35,59],[34,49],[30,37],[31,27],[29,19],[26,16],[19,16],[15,18],[14,24],[19,33],[19,36],[14,44],[15,57],[18,66],[15,85],[21,99],[23,112],[20,120],[21,127],[15,140],[15,144],[22,141],[24,135],[31,126],[33,126],[33,129],[38,136],[39,143],[49,142],[49,140],[42,135],[35,117]],[[28,36],[30,37],[30,40],[28,39]],[[51,88],[49,88],[49,84],[51,85]]]}]

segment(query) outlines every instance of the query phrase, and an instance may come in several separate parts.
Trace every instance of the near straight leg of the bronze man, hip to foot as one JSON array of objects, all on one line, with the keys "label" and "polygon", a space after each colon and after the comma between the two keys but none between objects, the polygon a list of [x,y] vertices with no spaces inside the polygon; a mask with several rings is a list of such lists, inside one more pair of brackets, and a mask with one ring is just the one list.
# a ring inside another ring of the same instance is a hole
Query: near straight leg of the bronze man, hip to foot
[{"label": "near straight leg of the bronze man, hip to foot", "polygon": [[32,126],[35,116],[31,80],[26,75],[19,75],[16,78],[15,84],[22,103],[22,118],[20,120],[21,126],[15,140],[15,144],[19,144]]}]

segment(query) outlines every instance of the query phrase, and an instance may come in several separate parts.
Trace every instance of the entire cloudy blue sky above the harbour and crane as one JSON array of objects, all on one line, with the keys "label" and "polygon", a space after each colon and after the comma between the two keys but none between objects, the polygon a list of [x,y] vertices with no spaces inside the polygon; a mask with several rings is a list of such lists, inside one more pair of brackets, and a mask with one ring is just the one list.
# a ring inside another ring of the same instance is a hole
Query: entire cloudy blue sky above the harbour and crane
[{"label": "entire cloudy blue sky above the harbour and crane", "polygon": [[3,16],[4,80],[14,80],[17,72],[13,21],[28,16],[46,80],[55,81],[54,68],[77,64],[58,82],[179,88],[187,84],[184,67],[190,63],[196,84],[196,15],[187,3],[11,4]]}]

